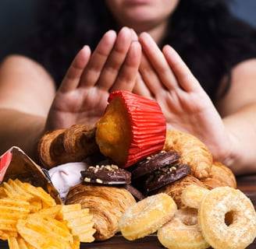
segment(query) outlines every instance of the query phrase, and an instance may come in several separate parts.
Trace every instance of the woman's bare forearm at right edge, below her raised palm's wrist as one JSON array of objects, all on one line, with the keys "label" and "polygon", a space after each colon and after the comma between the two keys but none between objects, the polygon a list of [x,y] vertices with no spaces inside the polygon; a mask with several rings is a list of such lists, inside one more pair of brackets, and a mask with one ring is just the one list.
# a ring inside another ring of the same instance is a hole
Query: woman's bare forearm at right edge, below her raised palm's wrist
[{"label": "woman's bare forearm at right edge, below her raised palm's wrist", "polygon": [[256,103],[247,105],[235,114],[223,118],[230,134],[231,155],[224,163],[235,174],[256,172]]}]

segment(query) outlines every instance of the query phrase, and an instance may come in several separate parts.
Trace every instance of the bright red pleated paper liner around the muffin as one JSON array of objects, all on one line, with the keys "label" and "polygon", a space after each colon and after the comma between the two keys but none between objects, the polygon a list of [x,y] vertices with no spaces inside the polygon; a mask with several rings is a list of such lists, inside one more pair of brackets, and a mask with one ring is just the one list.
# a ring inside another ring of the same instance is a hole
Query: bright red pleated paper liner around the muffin
[{"label": "bright red pleated paper liner around the muffin", "polygon": [[123,99],[130,117],[132,139],[125,165],[143,160],[163,149],[166,136],[166,121],[161,107],[155,100],[147,99],[126,91],[116,91],[110,94],[108,102],[115,96]]}]

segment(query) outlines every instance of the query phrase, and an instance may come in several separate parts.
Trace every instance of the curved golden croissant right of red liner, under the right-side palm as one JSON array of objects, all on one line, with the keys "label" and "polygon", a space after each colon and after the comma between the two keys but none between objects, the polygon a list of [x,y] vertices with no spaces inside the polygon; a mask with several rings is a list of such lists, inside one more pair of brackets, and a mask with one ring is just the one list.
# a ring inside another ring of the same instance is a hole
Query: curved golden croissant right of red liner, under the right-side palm
[{"label": "curved golden croissant right of red liner, under the right-side palm", "polygon": [[194,135],[168,130],[164,150],[175,150],[180,153],[180,163],[187,163],[192,174],[199,178],[209,177],[212,167],[212,153]]}]

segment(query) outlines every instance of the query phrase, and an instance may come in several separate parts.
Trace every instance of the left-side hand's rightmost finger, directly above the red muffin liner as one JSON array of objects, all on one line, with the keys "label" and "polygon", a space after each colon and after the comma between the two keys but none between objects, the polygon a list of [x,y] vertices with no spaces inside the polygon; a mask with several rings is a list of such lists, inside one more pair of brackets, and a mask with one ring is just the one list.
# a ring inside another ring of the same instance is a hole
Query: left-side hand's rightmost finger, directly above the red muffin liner
[{"label": "left-side hand's rightmost finger, directly above the red muffin liner", "polygon": [[140,65],[141,47],[140,43],[133,41],[127,53],[126,60],[120,69],[116,82],[110,91],[126,90],[132,91],[136,83],[137,73]]}]

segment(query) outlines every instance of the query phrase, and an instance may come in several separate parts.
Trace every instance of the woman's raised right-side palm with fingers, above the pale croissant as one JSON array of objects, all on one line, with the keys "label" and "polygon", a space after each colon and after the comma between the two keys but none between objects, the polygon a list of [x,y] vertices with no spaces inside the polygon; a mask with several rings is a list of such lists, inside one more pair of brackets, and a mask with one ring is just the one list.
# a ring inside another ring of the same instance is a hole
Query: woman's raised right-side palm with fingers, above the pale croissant
[{"label": "woman's raised right-side palm with fingers, above the pale croissant", "polygon": [[197,136],[211,149],[216,160],[228,157],[230,135],[187,65],[169,45],[160,51],[148,33],[141,33],[139,41],[143,56],[133,92],[160,104],[168,128]]}]

